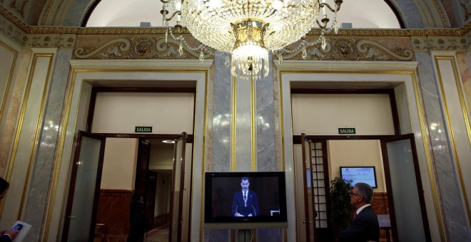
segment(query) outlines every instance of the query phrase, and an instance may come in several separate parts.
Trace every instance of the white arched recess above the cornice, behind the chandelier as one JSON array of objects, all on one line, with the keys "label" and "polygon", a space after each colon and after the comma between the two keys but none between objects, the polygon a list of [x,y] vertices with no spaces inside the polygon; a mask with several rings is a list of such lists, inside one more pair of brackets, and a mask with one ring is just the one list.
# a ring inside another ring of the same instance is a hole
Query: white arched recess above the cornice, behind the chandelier
[{"label": "white arched recess above the cornice, behind the chandelier", "polygon": [[[101,0],[90,14],[86,26],[136,27],[141,22],[162,26],[161,9],[162,4],[158,0]],[[383,0],[343,1],[338,22],[352,23],[353,28],[400,28],[393,10]]]}]

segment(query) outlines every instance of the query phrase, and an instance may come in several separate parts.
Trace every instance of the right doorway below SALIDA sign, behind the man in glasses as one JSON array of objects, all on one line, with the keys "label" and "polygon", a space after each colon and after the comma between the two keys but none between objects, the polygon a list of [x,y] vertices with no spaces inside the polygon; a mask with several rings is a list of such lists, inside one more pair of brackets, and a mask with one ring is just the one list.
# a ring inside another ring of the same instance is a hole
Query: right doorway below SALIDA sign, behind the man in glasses
[{"label": "right doorway below SALIDA sign, behind the man in glasses", "polygon": [[[329,197],[325,199],[319,196],[324,192],[328,194],[328,187],[325,188],[325,183],[319,181],[320,178],[330,181],[334,177],[340,177],[339,168],[345,166],[376,168],[378,187],[373,189],[375,196],[372,207],[377,215],[385,214],[390,217],[391,224],[390,227],[381,229],[380,239],[391,236],[393,241],[430,241],[425,201],[423,194],[419,192],[422,191],[422,184],[413,135],[302,136],[293,140],[298,141],[298,144],[294,144],[296,183],[305,184],[302,193],[304,195],[298,196],[304,204],[298,208],[297,214],[300,219],[306,221],[303,223],[305,226],[298,228],[299,241],[334,240],[333,221],[328,219]],[[322,144],[327,147],[322,148]],[[328,162],[328,166],[323,165],[323,162]],[[324,172],[319,173],[320,169]],[[304,177],[304,181],[298,177]],[[303,189],[298,187],[297,191]],[[312,199],[310,195],[313,195]]]}]

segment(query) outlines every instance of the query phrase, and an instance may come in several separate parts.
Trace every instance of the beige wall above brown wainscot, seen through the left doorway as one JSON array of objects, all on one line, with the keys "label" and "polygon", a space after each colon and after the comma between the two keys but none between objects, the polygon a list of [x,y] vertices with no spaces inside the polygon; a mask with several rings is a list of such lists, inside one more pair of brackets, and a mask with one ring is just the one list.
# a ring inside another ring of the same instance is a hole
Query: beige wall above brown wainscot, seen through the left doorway
[{"label": "beige wall above brown wainscot, seen through the left doorway", "polygon": [[101,189],[133,190],[138,139],[106,138]]}]

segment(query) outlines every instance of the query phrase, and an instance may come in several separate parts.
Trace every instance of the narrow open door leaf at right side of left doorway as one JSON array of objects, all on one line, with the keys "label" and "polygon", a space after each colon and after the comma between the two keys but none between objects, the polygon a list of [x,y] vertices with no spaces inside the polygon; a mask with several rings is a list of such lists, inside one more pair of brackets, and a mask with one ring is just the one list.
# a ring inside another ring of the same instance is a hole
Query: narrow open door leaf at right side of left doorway
[{"label": "narrow open door leaf at right side of left doorway", "polygon": [[170,198],[170,233],[169,241],[184,241],[182,235],[183,223],[183,188],[185,179],[185,147],[186,132],[181,133],[175,140],[173,149],[173,176]]}]

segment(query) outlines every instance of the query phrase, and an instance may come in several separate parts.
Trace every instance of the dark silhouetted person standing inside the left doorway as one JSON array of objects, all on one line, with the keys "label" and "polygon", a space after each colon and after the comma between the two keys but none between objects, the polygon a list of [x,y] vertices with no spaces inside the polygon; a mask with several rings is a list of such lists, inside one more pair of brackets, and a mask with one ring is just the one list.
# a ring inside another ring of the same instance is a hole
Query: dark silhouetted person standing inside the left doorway
[{"label": "dark silhouetted person standing inside the left doorway", "polygon": [[144,241],[144,198],[135,192],[131,199],[131,214],[129,214],[129,235],[127,242]]}]

